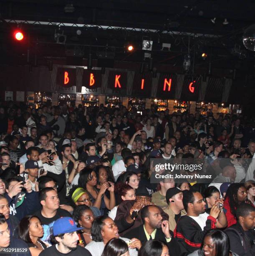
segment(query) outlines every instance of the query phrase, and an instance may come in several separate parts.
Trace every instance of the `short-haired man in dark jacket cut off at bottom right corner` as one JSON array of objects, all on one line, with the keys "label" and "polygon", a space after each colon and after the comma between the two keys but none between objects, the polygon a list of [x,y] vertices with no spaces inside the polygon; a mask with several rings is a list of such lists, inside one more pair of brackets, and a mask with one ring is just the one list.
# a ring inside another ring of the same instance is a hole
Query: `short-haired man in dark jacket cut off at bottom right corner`
[{"label": "short-haired man in dark jacket cut off at bottom right corner", "polygon": [[242,203],[236,210],[237,223],[225,232],[230,239],[230,250],[238,255],[255,255],[255,207]]}]

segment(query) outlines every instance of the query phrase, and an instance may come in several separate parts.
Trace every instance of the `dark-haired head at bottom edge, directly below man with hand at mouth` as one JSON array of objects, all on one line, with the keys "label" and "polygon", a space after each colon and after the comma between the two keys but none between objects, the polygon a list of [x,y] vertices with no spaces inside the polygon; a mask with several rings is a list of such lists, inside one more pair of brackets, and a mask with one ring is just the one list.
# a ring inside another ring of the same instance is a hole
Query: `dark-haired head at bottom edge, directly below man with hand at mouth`
[{"label": "dark-haired head at bottom edge, directly below man with hand at mouth", "polygon": [[159,240],[149,240],[139,250],[138,256],[169,256],[168,247]]}]

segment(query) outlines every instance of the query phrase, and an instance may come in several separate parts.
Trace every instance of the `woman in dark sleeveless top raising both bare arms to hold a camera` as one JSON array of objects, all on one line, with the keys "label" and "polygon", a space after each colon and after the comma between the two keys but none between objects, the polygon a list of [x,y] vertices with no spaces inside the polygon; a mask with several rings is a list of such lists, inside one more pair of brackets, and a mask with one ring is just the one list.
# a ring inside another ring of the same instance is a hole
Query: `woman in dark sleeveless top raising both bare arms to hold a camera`
[{"label": "woman in dark sleeveless top raising both bare arms to hold a camera", "polygon": [[[101,185],[100,189],[98,189],[96,185],[96,172],[89,167],[85,167],[81,170],[78,187],[86,189],[89,197],[92,199],[91,202],[93,206],[100,210],[101,215],[104,215],[108,213],[108,210],[111,210],[115,206],[114,183],[105,182]],[[105,194],[106,189],[109,191],[109,198]]]}]

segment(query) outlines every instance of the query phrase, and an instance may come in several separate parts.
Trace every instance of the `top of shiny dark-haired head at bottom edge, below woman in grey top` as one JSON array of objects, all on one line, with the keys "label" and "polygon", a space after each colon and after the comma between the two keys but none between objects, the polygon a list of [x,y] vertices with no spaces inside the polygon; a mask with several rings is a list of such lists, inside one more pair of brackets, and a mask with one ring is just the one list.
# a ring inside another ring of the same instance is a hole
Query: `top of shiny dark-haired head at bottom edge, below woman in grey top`
[{"label": "top of shiny dark-haired head at bottom edge, below woman in grey top", "polygon": [[113,238],[104,248],[104,251],[101,256],[130,256],[129,247],[127,243],[119,238]]}]

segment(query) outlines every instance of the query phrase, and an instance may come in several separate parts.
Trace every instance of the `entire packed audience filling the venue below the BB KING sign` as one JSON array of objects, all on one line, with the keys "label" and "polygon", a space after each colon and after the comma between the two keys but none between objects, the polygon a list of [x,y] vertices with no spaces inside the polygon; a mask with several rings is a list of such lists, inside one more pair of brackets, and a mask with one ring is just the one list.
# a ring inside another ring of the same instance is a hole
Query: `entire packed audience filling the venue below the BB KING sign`
[{"label": "entire packed audience filling the venue below the BB KING sign", "polygon": [[[245,116],[2,104],[0,253],[255,255],[254,153]],[[153,182],[158,161],[211,177]]]}]

